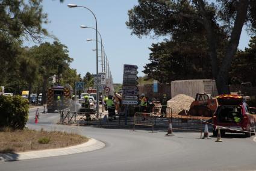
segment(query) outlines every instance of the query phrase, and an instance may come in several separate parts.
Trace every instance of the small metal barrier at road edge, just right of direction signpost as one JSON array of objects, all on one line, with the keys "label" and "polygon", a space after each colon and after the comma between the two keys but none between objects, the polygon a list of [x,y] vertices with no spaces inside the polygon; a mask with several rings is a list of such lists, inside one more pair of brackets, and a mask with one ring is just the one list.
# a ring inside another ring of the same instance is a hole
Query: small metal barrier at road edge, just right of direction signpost
[{"label": "small metal barrier at road edge, just right of direction signpost", "polygon": [[135,113],[133,131],[135,130],[135,125],[152,126],[152,133],[153,133],[154,122],[155,122],[155,116],[152,115],[152,113]]}]

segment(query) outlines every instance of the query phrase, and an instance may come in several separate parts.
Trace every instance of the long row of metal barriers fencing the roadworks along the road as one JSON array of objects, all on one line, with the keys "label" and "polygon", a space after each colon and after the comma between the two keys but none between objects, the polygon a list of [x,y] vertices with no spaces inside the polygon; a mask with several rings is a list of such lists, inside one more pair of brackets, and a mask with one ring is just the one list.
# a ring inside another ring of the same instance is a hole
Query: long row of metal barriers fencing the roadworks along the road
[{"label": "long row of metal barriers fencing the roadworks along the road", "polygon": [[[160,110],[160,109],[159,109]],[[175,130],[187,132],[201,132],[204,124],[201,122],[201,117],[197,116],[178,116],[172,114],[172,110],[168,108],[169,113],[163,117],[161,113],[134,113],[133,116],[128,116],[125,113],[115,113],[113,116],[108,116],[108,112],[90,113],[90,112],[75,112],[69,108],[61,110],[60,123],[63,125],[79,125],[79,126],[108,126],[111,128],[128,129],[150,129],[166,131],[169,122]]]}]

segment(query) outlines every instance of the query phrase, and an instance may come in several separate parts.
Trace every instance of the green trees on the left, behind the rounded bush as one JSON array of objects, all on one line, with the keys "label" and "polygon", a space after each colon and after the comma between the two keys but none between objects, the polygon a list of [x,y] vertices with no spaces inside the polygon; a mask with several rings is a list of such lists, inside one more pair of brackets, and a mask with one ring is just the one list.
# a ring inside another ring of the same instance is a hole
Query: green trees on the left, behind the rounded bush
[{"label": "green trees on the left, behind the rounded bush", "polygon": [[[0,1],[0,85],[5,92],[43,93],[44,101],[54,78],[59,85],[73,87],[75,81],[84,81],[86,87],[92,87],[92,74],[87,72],[82,78],[70,67],[73,58],[67,46],[49,34],[43,23],[48,23],[48,16],[43,13],[42,0]],[[45,42],[46,37],[55,41]],[[36,45],[23,47],[25,40]]]}]

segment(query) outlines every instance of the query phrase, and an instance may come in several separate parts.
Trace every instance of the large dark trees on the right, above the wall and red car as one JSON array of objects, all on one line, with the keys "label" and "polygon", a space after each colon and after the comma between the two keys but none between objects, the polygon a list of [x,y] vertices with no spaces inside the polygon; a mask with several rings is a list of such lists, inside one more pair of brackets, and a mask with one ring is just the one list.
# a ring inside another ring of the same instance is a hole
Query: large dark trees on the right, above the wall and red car
[{"label": "large dark trees on the right, above the wall and red car", "polygon": [[[213,78],[220,94],[229,93],[232,82],[255,85],[250,73],[255,69],[256,1],[138,0],[128,17],[131,34],[166,37],[149,48],[144,70],[149,78]],[[252,35],[245,51],[237,49],[243,26]]]}]

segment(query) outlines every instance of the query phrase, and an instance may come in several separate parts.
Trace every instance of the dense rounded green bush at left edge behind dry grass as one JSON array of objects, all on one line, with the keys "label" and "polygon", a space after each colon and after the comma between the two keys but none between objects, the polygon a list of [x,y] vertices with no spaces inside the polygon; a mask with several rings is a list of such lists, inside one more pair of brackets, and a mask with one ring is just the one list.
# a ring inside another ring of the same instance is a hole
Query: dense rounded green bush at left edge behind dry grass
[{"label": "dense rounded green bush at left edge behind dry grass", "polygon": [[28,100],[21,96],[0,96],[0,127],[25,128],[28,109]]}]

